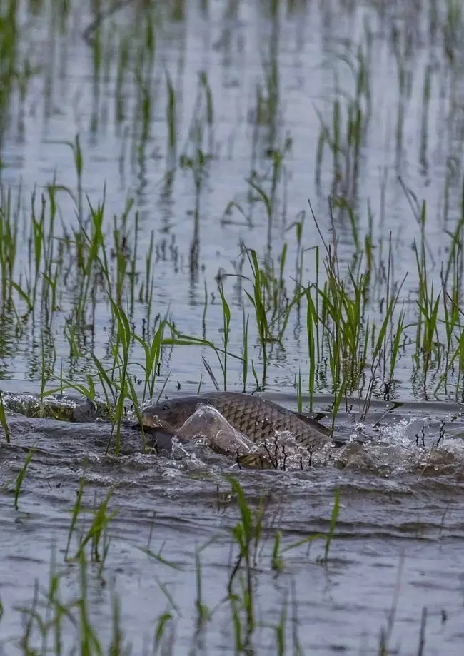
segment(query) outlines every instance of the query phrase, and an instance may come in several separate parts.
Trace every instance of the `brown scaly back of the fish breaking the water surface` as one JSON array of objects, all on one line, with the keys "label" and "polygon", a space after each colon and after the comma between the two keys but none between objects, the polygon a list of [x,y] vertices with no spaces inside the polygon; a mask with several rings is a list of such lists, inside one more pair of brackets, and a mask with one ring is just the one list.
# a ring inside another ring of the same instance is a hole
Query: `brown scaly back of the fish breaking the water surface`
[{"label": "brown scaly back of the fish breaking the water surface", "polygon": [[233,428],[254,442],[274,438],[280,431],[292,433],[309,450],[331,441],[328,429],[316,420],[259,396],[238,392],[211,392],[162,401],[143,411],[142,425],[181,428],[199,405],[216,408]]}]

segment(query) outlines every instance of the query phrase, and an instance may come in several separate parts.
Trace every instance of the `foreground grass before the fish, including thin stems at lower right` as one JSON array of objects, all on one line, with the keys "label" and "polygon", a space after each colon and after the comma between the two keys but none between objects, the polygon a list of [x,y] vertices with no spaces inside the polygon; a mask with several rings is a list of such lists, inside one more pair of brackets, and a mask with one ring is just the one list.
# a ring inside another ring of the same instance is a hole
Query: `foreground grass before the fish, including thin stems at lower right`
[{"label": "foreground grass before the fish, including thin stems at lower right", "polygon": [[[192,648],[198,645],[203,648],[208,645],[208,628],[216,618],[221,621],[228,616],[231,625],[231,640],[236,653],[250,652],[255,649],[256,642],[263,638],[274,636],[276,653],[303,653],[298,635],[298,602],[296,600],[295,582],[293,578],[284,580],[288,556],[291,552],[300,555],[302,547],[311,545],[316,540],[322,540],[324,549],[321,556],[313,558],[313,563],[331,569],[331,545],[336,538],[336,523],[340,512],[340,495],[335,494],[331,518],[327,521],[326,533],[309,534],[296,543],[288,540],[277,528],[276,519],[280,512],[269,505],[268,498],[262,496],[251,503],[247,499],[241,483],[227,475],[224,479],[225,489],[218,492],[221,505],[233,515],[228,522],[229,528],[225,537],[223,533],[214,535],[207,543],[199,547],[191,561],[176,563],[161,557],[151,550],[150,544],[142,549],[146,553],[146,567],[156,569],[156,580],[161,593],[166,597],[166,610],[153,617],[153,638],[151,645],[146,643],[147,654],[176,653],[176,620],[181,617],[181,610],[176,598],[171,595],[168,586],[162,582],[163,572],[173,569],[179,572],[193,570],[196,575],[196,598],[191,609],[192,617],[196,617],[191,638]],[[108,580],[106,561],[111,558],[111,551],[121,545],[120,538],[111,537],[110,529],[118,512],[111,510],[113,493],[106,493],[104,500],[97,505],[94,495],[94,508],[88,508],[84,500],[86,483],[82,479],[76,496],[76,503],[71,509],[71,524],[64,552],[63,567],[58,560],[61,553],[54,544],[52,547],[51,565],[48,585],[34,585],[34,594],[30,603],[16,606],[13,610],[21,614],[24,631],[17,637],[10,637],[4,645],[14,645],[19,653],[45,655],[53,653],[59,656],[75,650],[88,656],[123,655],[131,653],[131,643],[125,637],[123,626],[124,598],[117,591],[117,580]],[[89,498],[89,495],[86,495]],[[89,522],[84,519],[90,515]],[[235,518],[235,520],[234,520]],[[69,557],[69,549],[75,536],[76,553]],[[103,540],[101,550],[99,545]],[[150,538],[151,540],[151,538]],[[208,607],[204,596],[202,552],[216,540],[226,540],[231,552],[228,573],[224,578],[223,597],[214,607]],[[307,553],[308,557],[308,553]],[[398,572],[398,583],[400,581]],[[266,575],[281,577],[285,589],[281,591],[280,612],[278,620],[269,622],[261,619],[261,605],[258,601],[260,582]],[[73,594],[69,594],[69,581],[75,582]],[[96,585],[101,590],[106,589],[106,602],[109,604],[109,627],[102,628],[94,617],[94,600],[89,590]],[[63,594],[63,588],[66,592]],[[388,616],[388,624],[380,633],[380,652],[390,653],[390,637],[395,622],[395,610],[398,603],[399,588],[395,590],[393,605]],[[292,620],[288,617],[291,610]],[[4,607],[0,602],[0,621]],[[185,609],[183,609],[185,612]],[[425,614],[425,615],[424,615]],[[419,632],[419,644],[425,645],[426,609],[423,610],[422,623]],[[148,631],[148,633],[150,633]],[[148,635],[148,634],[147,634]],[[1,644],[1,642],[0,642]],[[420,651],[419,651],[420,653]]]}]

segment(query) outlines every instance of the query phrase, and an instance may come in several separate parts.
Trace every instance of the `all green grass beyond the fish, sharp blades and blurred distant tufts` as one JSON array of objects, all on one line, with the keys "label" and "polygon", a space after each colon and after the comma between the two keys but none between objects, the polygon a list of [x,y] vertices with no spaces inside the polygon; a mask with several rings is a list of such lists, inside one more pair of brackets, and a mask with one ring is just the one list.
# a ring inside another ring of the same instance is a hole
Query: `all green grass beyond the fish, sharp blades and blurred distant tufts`
[{"label": "all green grass beyond the fish, sharp blades and blurred distant tufts", "polygon": [[[11,11],[14,11],[14,6]],[[274,21],[273,35],[276,37],[279,12],[272,11],[271,14]],[[455,34],[455,27],[451,30],[450,25],[455,25],[458,12],[450,11],[447,16],[446,33]],[[450,16],[453,16],[453,20]],[[106,18],[108,15],[105,11],[98,14],[95,19],[98,25],[91,30],[96,72],[106,65],[101,63],[100,58],[110,55],[106,51],[108,46],[103,34]],[[123,31],[116,32],[116,39],[121,39],[121,48],[118,50],[120,56],[115,64],[118,91],[116,115],[123,114],[128,71],[135,71],[138,84],[141,84],[141,105],[136,107],[136,118],[133,121],[135,125],[141,126],[141,131],[137,129],[134,138],[140,138],[141,143],[150,141],[146,126],[153,114],[151,104],[154,91],[146,86],[148,83],[143,82],[143,79],[146,79],[156,64],[154,41],[157,21],[156,16],[150,14],[146,34],[141,35],[135,49],[128,48]],[[129,31],[131,29],[128,28]],[[255,117],[258,125],[268,125],[269,121],[276,123],[280,104],[276,44],[271,41],[268,61],[263,63],[267,90],[260,101],[262,106],[263,98],[266,99],[267,109],[258,111]],[[408,68],[405,59],[411,54],[402,52],[400,44],[397,46],[395,58],[398,60],[401,91],[408,87],[405,81]],[[278,209],[276,203],[278,200],[282,203],[282,198],[285,198],[283,178],[286,158],[292,149],[291,139],[283,139],[281,147],[273,139],[269,147],[270,169],[263,173],[253,169],[244,181],[250,191],[248,197],[251,206],[264,208],[266,246],[263,253],[243,247],[245,268],[242,267],[239,274],[243,308],[238,307],[235,299],[229,296],[224,284],[226,278],[218,282],[216,293],[221,299],[223,311],[222,343],[206,339],[205,330],[201,337],[180,333],[175,328],[175,308],[168,323],[166,318],[161,320],[158,315],[153,318],[153,286],[156,280],[154,232],[151,232],[148,248],[145,245],[142,247],[140,219],[134,210],[133,198],[128,198],[126,208],[119,216],[110,218],[106,212],[104,190],[102,200],[95,206],[85,197],[85,155],[79,134],[76,134],[74,141],[62,142],[69,148],[74,161],[75,189],[53,181],[46,191],[34,191],[30,203],[25,202],[21,193],[15,198],[11,189],[4,192],[0,223],[2,308],[12,318],[11,328],[16,339],[21,338],[21,335],[26,338],[36,325],[49,328],[49,339],[47,343],[42,343],[42,350],[53,354],[53,357],[42,363],[41,393],[58,379],[64,378],[67,381],[64,385],[66,388],[69,385],[81,385],[82,375],[90,376],[99,383],[99,393],[104,392],[107,401],[111,399],[116,418],[121,420],[123,403],[127,401],[137,406],[141,388],[142,400],[147,394],[152,397],[155,393],[156,376],[159,373],[159,378],[163,377],[161,370],[166,347],[188,343],[212,348],[216,352],[224,388],[228,385],[228,358],[233,357],[242,363],[243,389],[247,388],[248,380],[253,380],[256,388],[266,389],[273,356],[291,339],[290,331],[295,318],[303,311],[306,312],[308,372],[307,375],[303,372],[302,391],[308,394],[311,409],[315,395],[321,391],[333,394],[331,411],[334,420],[343,407],[343,400],[353,393],[360,395],[365,410],[372,395],[395,398],[396,370],[400,360],[401,366],[405,365],[405,358],[409,358],[414,379],[422,380],[425,398],[443,390],[448,398],[450,395],[460,398],[463,393],[460,357],[463,323],[458,310],[458,299],[462,286],[462,226],[459,227],[458,223],[452,231],[448,228],[444,231],[445,239],[450,239],[448,260],[442,263],[438,281],[434,281],[435,276],[430,275],[436,271],[438,263],[432,261],[433,271],[430,271],[430,246],[426,236],[427,203],[420,201],[403,182],[413,218],[418,224],[413,271],[409,271],[408,276],[400,280],[395,278],[392,238],[390,236],[387,253],[381,243],[375,244],[373,216],[369,208],[368,231],[363,233],[360,227],[364,219],[355,198],[362,168],[363,143],[367,138],[373,112],[373,89],[370,83],[372,73],[369,64],[372,48],[373,37],[366,24],[365,33],[356,49],[337,48],[333,53],[331,66],[336,71],[336,79],[339,68],[348,69],[352,75],[353,94],[348,94],[346,89],[336,85],[331,122],[325,118],[326,112],[317,109],[321,121],[316,166],[318,184],[321,184],[323,157],[327,147],[333,157],[332,193],[326,209],[329,228],[320,227],[322,223],[327,224],[326,218],[316,217],[312,208],[310,228],[303,229],[303,221],[292,223],[292,226],[296,226],[298,244],[297,277],[293,278],[292,286],[289,286],[291,276],[288,274],[288,252],[289,248],[293,248],[292,241],[284,241],[280,252],[274,256],[269,250],[276,222],[282,221],[287,213],[285,206]],[[430,68],[427,71],[423,88],[425,107],[430,104]],[[97,77],[100,79],[101,75]],[[176,85],[171,76],[166,74],[166,180],[170,185],[172,176],[182,170],[191,171],[192,174],[195,202],[193,239],[188,259],[192,280],[197,281],[201,258],[201,198],[208,178],[208,167],[211,158],[215,156],[216,112],[213,90],[204,71],[198,76],[196,101],[181,152],[177,143],[176,114]],[[271,115],[273,118],[264,120],[263,115]],[[430,117],[423,118],[423,133],[427,132],[424,126],[428,125],[429,120]],[[59,197],[63,194],[74,203],[77,225],[72,222],[68,225],[59,218]],[[26,205],[30,207],[30,221],[24,222],[24,231],[20,235],[19,226]],[[236,201],[231,200],[227,205],[228,211],[237,206]],[[251,217],[246,211],[243,213],[250,223]],[[343,258],[338,253],[340,245],[337,226],[343,216],[348,219],[353,243],[352,255],[348,260],[346,248],[343,249]],[[313,228],[318,232],[318,245],[314,246],[310,241],[309,250],[305,251],[301,243],[306,243],[308,230],[314,235]],[[27,245],[27,262],[23,258],[24,245]],[[313,272],[311,281],[303,280],[301,274],[305,266]],[[418,281],[418,293],[413,303],[408,298],[406,308],[403,288],[405,281],[410,288],[407,277]],[[102,307],[109,314],[111,346],[108,356],[100,361],[91,353],[89,342],[95,340],[96,316]],[[203,323],[206,322],[206,309],[207,302]],[[141,318],[142,335],[133,328],[136,317],[137,321]],[[52,322],[55,327],[56,321],[61,324],[61,336],[56,329],[51,334]],[[171,338],[165,336],[166,326],[172,327]],[[236,348],[238,326],[243,327],[243,347],[235,353],[229,353],[230,348]],[[156,336],[152,339],[153,332]],[[55,343],[56,340],[61,342],[62,338],[69,344],[69,354],[66,357],[61,352],[60,357],[56,358]],[[250,342],[259,347],[258,357],[253,360],[249,360]],[[134,368],[140,366],[142,374],[139,376]],[[66,371],[66,368],[69,370]],[[109,370],[111,375],[108,375]],[[252,378],[248,375],[250,371]],[[301,368],[299,372],[301,375]],[[89,390],[91,398],[94,394],[95,390]]]}]

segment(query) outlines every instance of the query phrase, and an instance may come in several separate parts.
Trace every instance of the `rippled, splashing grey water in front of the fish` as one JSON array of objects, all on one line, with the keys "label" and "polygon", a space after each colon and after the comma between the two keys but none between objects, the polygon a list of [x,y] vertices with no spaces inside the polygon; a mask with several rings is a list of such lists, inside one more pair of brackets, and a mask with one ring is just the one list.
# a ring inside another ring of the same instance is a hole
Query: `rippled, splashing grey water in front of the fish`
[{"label": "rippled, splashing grey water in front of the fish", "polygon": [[[104,455],[106,422],[64,423],[11,415],[11,444],[0,447],[0,595],[6,606],[2,637],[24,632],[20,613],[12,609],[31,600],[35,578],[47,589],[52,544],[59,547],[61,563],[70,511],[84,475],[86,505],[94,505],[94,495],[100,503],[111,488],[110,510],[118,510],[103,571],[106,585],[97,575],[97,565],[88,574],[91,621],[100,639],[106,643],[111,634],[108,584],[115,577],[121,626],[133,653],[152,645],[156,618],[172,608],[160,591],[162,584],[176,608],[174,653],[190,650],[196,640],[195,550],[206,545],[201,550],[201,576],[203,602],[210,609],[223,599],[237,557],[227,533],[238,519],[237,508],[224,497],[230,487],[223,478],[233,473],[252,504],[260,495],[268,501],[267,530],[256,563],[257,620],[265,625],[253,637],[256,653],[267,653],[275,640],[266,625],[278,624],[286,595],[293,590],[298,638],[305,653],[377,650],[380,631],[394,607],[390,649],[416,654],[426,607],[424,653],[458,655],[464,637],[461,408],[436,404],[425,417],[406,405],[380,420],[386,408],[374,405],[366,419],[367,443],[330,448],[312,468],[285,472],[240,470],[233,459],[201,444],[181,445],[170,457],[158,458],[136,453],[140,445],[133,439],[133,453],[116,458]],[[341,415],[342,425],[343,419],[350,423]],[[442,420],[445,438],[434,446]],[[423,423],[425,446],[421,439],[416,445],[415,439]],[[130,438],[127,430],[125,438]],[[15,512],[14,480],[24,463],[23,448],[31,445],[36,453]],[[271,570],[271,535],[279,528],[287,545],[328,530],[336,489],[341,492],[341,511],[328,565],[318,562],[323,544],[316,541],[309,550],[303,546],[286,552],[285,568],[277,575]],[[84,523],[79,523],[81,530]],[[207,545],[213,536],[217,541]],[[74,553],[76,538],[71,544]],[[163,557],[181,565],[181,571],[153,562],[138,550],[148,545],[155,553],[162,548]],[[78,580],[78,566],[69,565],[61,583],[64,598],[76,594]],[[231,632],[226,603],[206,625],[204,650],[233,653]],[[75,635],[69,627],[66,644]],[[20,653],[11,644],[4,652]]]}]

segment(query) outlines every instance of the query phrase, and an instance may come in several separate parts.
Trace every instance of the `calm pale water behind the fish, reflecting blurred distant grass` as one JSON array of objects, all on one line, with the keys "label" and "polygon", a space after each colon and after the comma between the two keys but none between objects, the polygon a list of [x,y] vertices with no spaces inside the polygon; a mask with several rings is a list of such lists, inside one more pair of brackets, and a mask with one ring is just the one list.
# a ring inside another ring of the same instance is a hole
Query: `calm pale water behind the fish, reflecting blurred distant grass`
[{"label": "calm pale water behind the fish, reflecting blurred distant grass", "polygon": [[[128,223],[116,225],[119,241],[132,252],[138,213],[136,298],[142,303],[129,308],[138,329],[151,331],[169,308],[178,330],[218,343],[220,278],[232,306],[230,348],[240,353],[242,306],[250,311],[241,290],[251,289],[246,280],[223,274],[249,275],[241,244],[260,257],[273,256],[278,268],[282,242],[288,243],[284,298],[294,280],[315,281],[311,249],[322,247],[321,236],[328,243],[336,237],[339,261],[353,271],[366,244],[373,246],[371,321],[383,320],[385,281],[398,286],[405,276],[400,303],[405,323],[415,321],[418,273],[411,247],[421,238],[420,203],[427,203],[427,276],[437,289],[442,263],[446,269],[448,255],[453,261],[450,232],[461,206],[460,74],[447,58],[452,34],[453,61],[460,61],[458,19],[448,25],[441,3],[428,12],[408,2],[399,14],[382,3],[276,3],[273,10],[257,2],[207,5],[189,2],[174,19],[170,4],[124,3],[98,20],[90,7],[73,3],[66,11],[44,6],[36,14],[21,5],[17,54],[26,71],[24,89],[16,85],[8,96],[11,115],[19,119],[4,126],[2,148],[2,181],[5,193],[19,193],[19,220],[30,216],[35,188],[39,213],[39,190],[54,180],[57,239],[74,238],[76,218],[89,229],[87,198],[95,208],[104,191],[111,235],[112,217],[121,217],[132,198]],[[20,231],[18,279],[29,276],[28,252]],[[66,328],[76,302],[75,266],[69,263],[64,276],[51,335],[64,374],[79,380],[86,364],[73,360]],[[115,275],[117,266],[116,258]],[[154,271],[152,296],[146,266]],[[109,363],[106,301],[96,294],[92,330],[79,350],[88,358],[92,349]],[[14,345],[1,348],[4,376],[16,383],[9,388],[20,392],[36,392],[40,379],[44,320],[34,320],[24,340],[11,329]],[[276,390],[293,388],[298,369],[306,377],[306,321],[299,306],[284,336],[285,348],[269,348],[266,386]],[[443,358],[433,353],[424,382],[415,370],[420,358],[412,358],[415,336],[405,335],[388,390],[392,398],[430,398],[438,384]],[[253,321],[249,339],[256,343]],[[169,386],[178,382],[193,391],[199,358],[199,351],[188,358],[179,349],[166,353],[163,378],[171,371]],[[261,353],[254,349],[253,362],[261,380]],[[230,359],[229,372],[235,383],[239,360]],[[331,391],[327,368],[318,372],[317,387]],[[376,384],[374,393],[385,390]],[[439,393],[448,397],[453,390]]]}]

